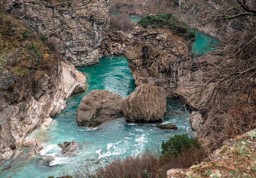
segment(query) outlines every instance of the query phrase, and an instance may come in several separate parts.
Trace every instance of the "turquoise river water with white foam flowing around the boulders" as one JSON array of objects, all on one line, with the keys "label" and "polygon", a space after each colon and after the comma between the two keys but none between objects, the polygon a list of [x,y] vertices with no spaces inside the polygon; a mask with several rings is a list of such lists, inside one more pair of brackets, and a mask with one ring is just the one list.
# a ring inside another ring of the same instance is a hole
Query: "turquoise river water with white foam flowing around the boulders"
[{"label": "turquoise river water with white foam flowing around the boulders", "polygon": [[[207,38],[205,37],[204,40]],[[198,42],[198,39],[196,41]],[[172,98],[167,99],[169,112],[164,118],[164,123],[175,123],[178,130],[159,130],[155,124],[126,123],[124,118],[108,122],[98,128],[76,125],[76,108],[84,95],[91,90],[106,89],[125,98],[135,89],[125,57],[102,58],[99,64],[78,70],[87,77],[86,91],[67,99],[67,108],[53,118],[51,126],[38,127],[27,137],[36,138],[41,142],[43,150],[39,154],[31,155],[25,147],[22,147],[22,154],[18,158],[11,158],[2,165],[5,167],[11,164],[12,167],[0,172],[1,178],[56,177],[61,176],[63,171],[72,174],[75,167],[88,160],[92,162],[99,160],[100,165],[105,165],[116,158],[136,156],[146,148],[155,148],[161,145],[163,140],[166,141],[175,134],[187,133],[193,136],[194,132],[191,131],[189,124],[189,112],[179,110],[180,105]],[[79,143],[76,155],[61,154],[61,148],[57,144],[73,140]],[[55,159],[49,166],[42,165],[37,162],[40,155],[54,156]]]}]

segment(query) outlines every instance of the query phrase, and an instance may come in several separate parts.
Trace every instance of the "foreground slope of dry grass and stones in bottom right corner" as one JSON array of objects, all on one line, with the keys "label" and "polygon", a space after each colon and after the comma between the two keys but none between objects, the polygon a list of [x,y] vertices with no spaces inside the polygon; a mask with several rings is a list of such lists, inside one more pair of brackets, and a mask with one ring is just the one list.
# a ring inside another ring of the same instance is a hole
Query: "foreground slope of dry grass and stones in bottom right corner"
[{"label": "foreground slope of dry grass and stones in bottom right corner", "polygon": [[242,136],[225,141],[207,161],[190,169],[173,170],[171,176],[183,177],[228,177],[252,178],[256,175],[256,129]]}]

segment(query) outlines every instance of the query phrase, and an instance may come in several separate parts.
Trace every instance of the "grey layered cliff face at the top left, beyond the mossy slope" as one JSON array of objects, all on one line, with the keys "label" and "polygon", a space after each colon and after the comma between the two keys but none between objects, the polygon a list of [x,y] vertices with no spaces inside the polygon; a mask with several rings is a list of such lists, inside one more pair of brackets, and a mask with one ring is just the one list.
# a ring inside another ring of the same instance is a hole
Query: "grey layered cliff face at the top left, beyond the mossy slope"
[{"label": "grey layered cliff face at the top left, beyond the mossy slope", "polygon": [[6,10],[35,33],[55,37],[58,51],[75,66],[102,57],[97,50],[108,24],[108,0],[6,0]]}]

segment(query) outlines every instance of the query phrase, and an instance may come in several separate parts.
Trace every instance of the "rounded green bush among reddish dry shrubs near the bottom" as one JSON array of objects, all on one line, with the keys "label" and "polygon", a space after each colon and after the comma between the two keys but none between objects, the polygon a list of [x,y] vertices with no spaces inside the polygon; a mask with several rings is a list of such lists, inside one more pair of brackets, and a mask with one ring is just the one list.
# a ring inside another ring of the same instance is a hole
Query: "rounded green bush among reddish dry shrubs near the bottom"
[{"label": "rounded green bush among reddish dry shrubs near the bottom", "polygon": [[200,148],[200,144],[193,137],[189,138],[186,134],[176,135],[168,141],[162,142],[162,156],[174,155],[176,158],[184,149],[191,147]]}]

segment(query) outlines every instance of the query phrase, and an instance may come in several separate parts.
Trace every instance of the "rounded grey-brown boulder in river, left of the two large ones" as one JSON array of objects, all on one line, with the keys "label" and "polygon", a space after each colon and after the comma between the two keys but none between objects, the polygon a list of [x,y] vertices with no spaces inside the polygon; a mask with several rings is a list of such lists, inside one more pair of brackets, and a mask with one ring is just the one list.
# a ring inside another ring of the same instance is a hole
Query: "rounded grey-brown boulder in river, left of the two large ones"
[{"label": "rounded grey-brown boulder in river, left of the two large ones", "polygon": [[108,90],[92,90],[81,100],[76,110],[76,123],[97,127],[107,121],[124,116],[123,97]]}]

